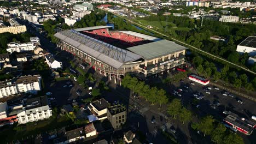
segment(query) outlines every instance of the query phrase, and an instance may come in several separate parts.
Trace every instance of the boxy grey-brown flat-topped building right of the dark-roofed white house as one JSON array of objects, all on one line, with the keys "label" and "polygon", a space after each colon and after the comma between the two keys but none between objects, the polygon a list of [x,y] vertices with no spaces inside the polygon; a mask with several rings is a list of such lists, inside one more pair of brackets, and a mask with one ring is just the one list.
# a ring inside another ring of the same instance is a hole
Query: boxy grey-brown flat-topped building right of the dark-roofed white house
[{"label": "boxy grey-brown flat-topped building right of the dark-roofed white house", "polygon": [[123,105],[113,105],[107,108],[107,118],[114,129],[119,128],[126,122],[126,107]]}]

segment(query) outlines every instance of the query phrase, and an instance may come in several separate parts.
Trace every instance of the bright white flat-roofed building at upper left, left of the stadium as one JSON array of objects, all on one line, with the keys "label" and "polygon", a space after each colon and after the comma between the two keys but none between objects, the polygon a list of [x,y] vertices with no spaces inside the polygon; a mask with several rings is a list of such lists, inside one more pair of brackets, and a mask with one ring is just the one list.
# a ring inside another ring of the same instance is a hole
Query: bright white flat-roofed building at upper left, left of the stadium
[{"label": "bright white flat-roofed building at upper left, left of the stadium", "polygon": [[16,52],[22,52],[22,51],[33,51],[36,46],[34,46],[32,43],[20,43],[18,42],[11,42],[7,44],[7,52],[13,53]]}]

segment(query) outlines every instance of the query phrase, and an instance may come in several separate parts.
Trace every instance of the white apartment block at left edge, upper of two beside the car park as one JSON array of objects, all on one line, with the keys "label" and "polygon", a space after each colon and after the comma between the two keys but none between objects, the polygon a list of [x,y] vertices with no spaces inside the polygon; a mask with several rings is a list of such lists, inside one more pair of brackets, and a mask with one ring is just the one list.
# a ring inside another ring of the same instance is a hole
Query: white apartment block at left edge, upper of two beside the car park
[{"label": "white apartment block at left edge, upper of two beside the car park", "polygon": [[0,98],[18,93],[33,93],[41,91],[41,76],[28,75],[14,77],[11,80],[0,81]]}]

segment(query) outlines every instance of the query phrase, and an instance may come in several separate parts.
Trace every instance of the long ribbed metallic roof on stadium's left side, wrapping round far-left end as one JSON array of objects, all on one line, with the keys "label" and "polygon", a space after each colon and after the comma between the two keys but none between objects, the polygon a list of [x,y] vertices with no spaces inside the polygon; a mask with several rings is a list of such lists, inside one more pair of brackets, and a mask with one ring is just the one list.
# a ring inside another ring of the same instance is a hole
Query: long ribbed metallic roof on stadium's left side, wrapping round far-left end
[{"label": "long ribbed metallic roof on stadium's left side, wrapping round far-left end", "polygon": [[[82,34],[78,31],[88,31],[96,27],[89,27],[81,29],[71,29],[54,34],[56,38],[65,41],[67,44],[76,47],[77,49],[88,53],[90,56],[111,65],[118,69],[124,63],[133,62],[141,58],[141,56],[127,50],[120,49],[116,46],[104,43],[101,40],[91,38],[88,35]],[[98,26],[97,28],[108,28],[106,26]],[[97,29],[96,28],[96,29]]]}]

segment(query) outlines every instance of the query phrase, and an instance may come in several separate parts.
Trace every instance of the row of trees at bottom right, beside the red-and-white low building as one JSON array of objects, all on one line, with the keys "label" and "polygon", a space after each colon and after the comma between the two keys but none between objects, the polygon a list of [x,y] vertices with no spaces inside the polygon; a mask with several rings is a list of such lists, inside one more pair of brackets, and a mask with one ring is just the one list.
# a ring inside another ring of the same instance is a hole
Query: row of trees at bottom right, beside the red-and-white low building
[{"label": "row of trees at bottom right, beside the red-and-white low building", "polygon": [[212,116],[206,116],[199,123],[191,124],[195,130],[199,130],[204,136],[210,135],[211,140],[217,144],[242,144],[245,143],[241,136],[231,133],[226,127],[216,122]]}]

